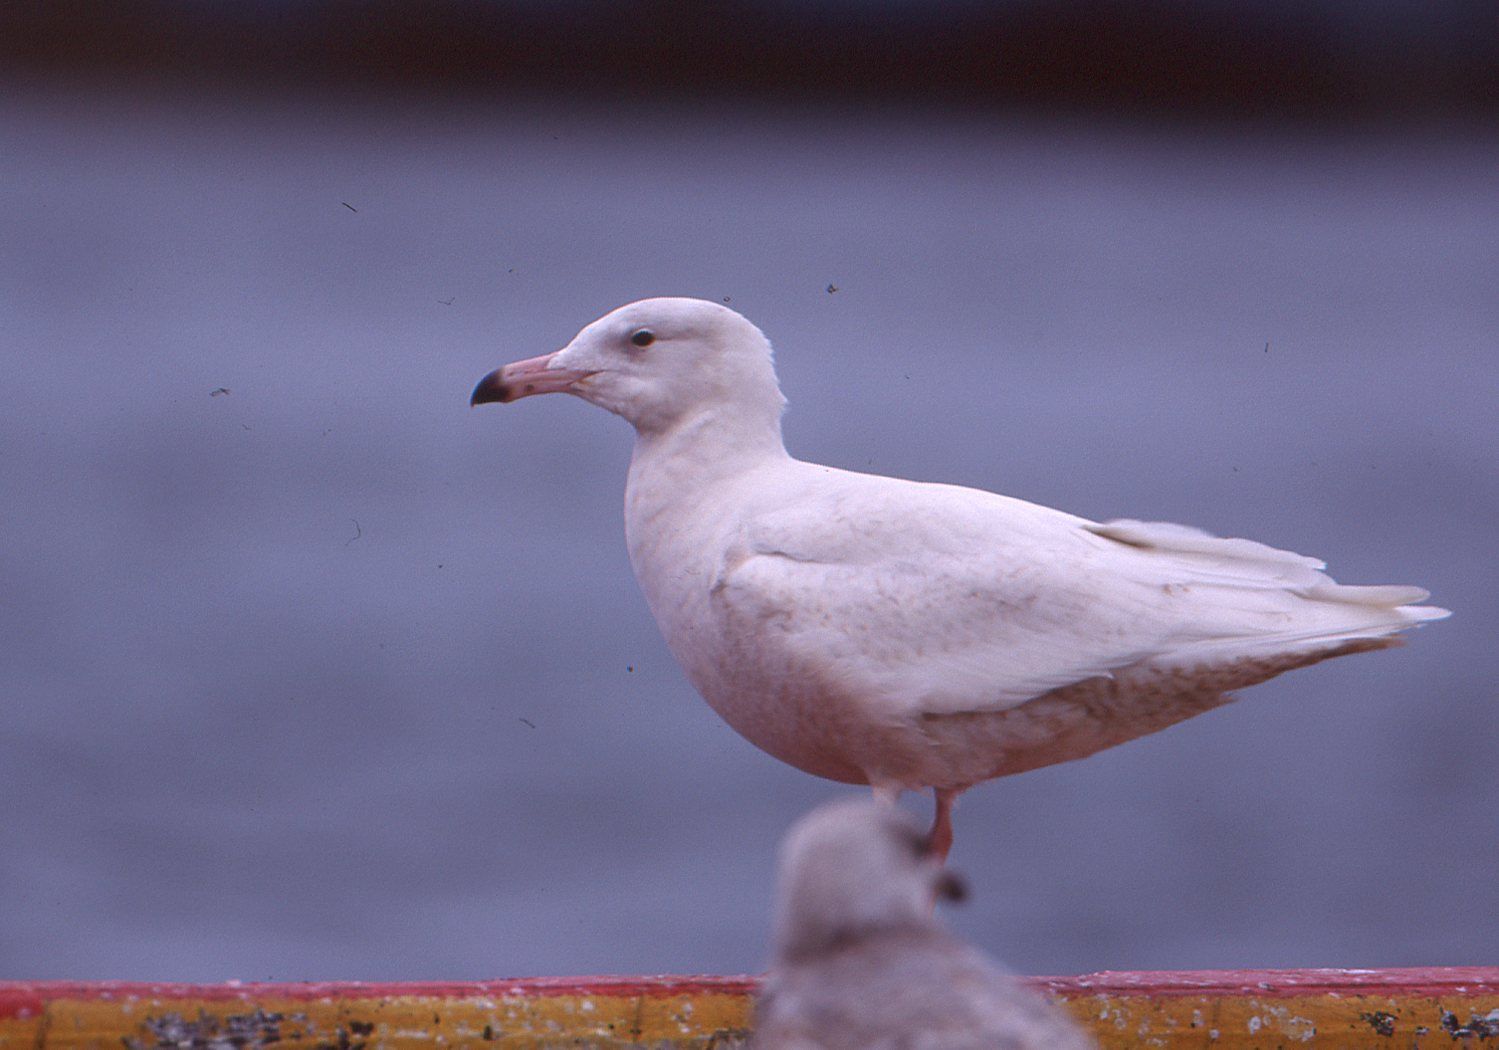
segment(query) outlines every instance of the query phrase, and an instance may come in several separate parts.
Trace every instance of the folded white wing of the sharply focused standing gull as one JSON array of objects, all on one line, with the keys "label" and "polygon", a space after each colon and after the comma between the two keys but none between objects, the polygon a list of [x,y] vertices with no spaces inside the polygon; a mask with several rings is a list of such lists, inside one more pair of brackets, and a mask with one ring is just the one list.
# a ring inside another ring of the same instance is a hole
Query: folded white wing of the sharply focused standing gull
[{"label": "folded white wing of the sharply focused standing gull", "polygon": [[1420,588],[1345,586],[1252,540],[817,470],[739,524],[714,609],[890,716],[1004,710],[1142,663],[1331,650],[1447,615]]}]

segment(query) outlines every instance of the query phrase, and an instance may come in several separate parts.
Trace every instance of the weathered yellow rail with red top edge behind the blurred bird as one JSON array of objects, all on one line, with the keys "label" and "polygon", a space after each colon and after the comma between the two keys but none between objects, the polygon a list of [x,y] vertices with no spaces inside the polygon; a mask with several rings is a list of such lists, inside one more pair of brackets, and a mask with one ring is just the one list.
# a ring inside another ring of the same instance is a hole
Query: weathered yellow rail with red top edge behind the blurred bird
[{"label": "weathered yellow rail with red top edge behind the blurred bird", "polygon": [[[1027,978],[1102,1047],[1493,1047],[1499,968]],[[750,1035],[750,976],[471,982],[0,981],[0,1050],[694,1047]]]}]

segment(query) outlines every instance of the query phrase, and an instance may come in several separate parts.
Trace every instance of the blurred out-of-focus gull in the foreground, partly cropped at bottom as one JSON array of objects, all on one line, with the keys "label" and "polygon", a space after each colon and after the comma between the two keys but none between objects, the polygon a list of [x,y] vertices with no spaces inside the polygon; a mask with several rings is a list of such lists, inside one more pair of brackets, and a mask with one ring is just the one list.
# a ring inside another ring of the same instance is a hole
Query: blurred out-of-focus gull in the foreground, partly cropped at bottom
[{"label": "blurred out-of-focus gull in the foreground, partly cropped at bottom", "polygon": [[1084,1050],[1093,1041],[932,916],[961,884],[901,810],[830,802],[781,846],[754,1050]]}]

